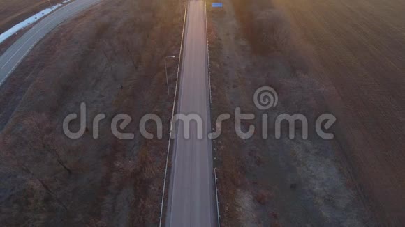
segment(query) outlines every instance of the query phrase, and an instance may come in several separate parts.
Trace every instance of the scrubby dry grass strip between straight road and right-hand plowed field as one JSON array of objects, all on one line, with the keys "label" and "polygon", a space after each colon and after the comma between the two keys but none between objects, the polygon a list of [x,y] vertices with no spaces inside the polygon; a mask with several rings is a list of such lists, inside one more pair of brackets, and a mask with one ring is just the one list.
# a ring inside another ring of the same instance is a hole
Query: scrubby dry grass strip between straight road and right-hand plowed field
[{"label": "scrubby dry grass strip between straight road and right-hand plowed field", "polygon": [[[208,1],[208,6],[212,1]],[[223,226],[372,226],[367,203],[352,175],[335,152],[336,141],[309,132],[309,140],[274,139],[272,120],[281,113],[301,113],[309,125],[330,111],[325,86],[312,75],[311,61],[298,48],[288,17],[270,1],[223,1],[209,8],[209,50],[212,69],[212,118],[254,113],[249,124],[261,130],[261,114],[253,104],[256,88],[272,86],[279,94],[270,116],[269,139],[235,134],[233,118],[214,141]],[[293,4],[293,3],[292,3]],[[214,120],[213,120],[214,122]],[[298,127],[300,128],[300,127]],[[286,125],[283,125],[286,132]]]}]

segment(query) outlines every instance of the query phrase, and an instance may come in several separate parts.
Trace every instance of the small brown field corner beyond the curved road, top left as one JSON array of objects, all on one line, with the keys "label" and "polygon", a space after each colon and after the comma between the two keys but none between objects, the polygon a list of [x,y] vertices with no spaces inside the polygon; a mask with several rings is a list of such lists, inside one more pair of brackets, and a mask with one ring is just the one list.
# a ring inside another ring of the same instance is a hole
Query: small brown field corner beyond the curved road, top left
[{"label": "small brown field corner beyond the curved road, top left", "polygon": [[0,0],[0,33],[61,0]]}]

